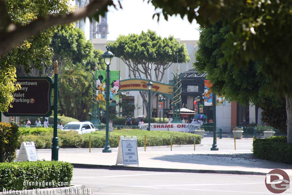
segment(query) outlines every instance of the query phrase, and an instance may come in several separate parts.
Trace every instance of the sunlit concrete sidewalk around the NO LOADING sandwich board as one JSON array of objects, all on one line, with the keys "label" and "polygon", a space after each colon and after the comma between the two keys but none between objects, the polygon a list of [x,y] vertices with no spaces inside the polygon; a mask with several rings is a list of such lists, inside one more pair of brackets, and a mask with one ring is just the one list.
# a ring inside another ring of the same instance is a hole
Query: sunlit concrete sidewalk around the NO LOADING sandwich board
[{"label": "sunlit concrete sidewalk around the NO LOADING sandwich board", "polygon": [[[219,151],[210,151],[212,140],[208,137],[202,139],[201,145],[196,145],[196,151],[194,151],[194,145],[173,146],[172,151],[170,151],[170,146],[147,147],[146,151],[139,147],[139,168],[127,167],[131,170],[255,175],[263,175],[278,168],[292,176],[292,165],[253,158],[252,139],[236,140],[236,150],[234,150],[234,139],[218,139]],[[117,148],[112,148],[112,153],[102,153],[102,149],[91,149],[91,153],[89,149],[60,149],[59,161],[101,165],[95,166],[96,168],[110,168],[109,166],[114,165],[114,168],[117,168],[115,166],[117,151]],[[51,150],[37,150],[37,153],[39,159],[51,160]]]}]

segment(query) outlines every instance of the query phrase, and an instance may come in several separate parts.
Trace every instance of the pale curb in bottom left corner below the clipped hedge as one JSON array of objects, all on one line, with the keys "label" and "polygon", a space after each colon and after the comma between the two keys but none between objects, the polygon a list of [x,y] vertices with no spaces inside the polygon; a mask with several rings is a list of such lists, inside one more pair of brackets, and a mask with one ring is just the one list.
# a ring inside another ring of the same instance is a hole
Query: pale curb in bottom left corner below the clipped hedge
[{"label": "pale curb in bottom left corner below the clipped hedge", "polygon": [[[85,185],[74,185],[70,187],[62,187],[62,188],[44,188],[44,189],[28,189],[28,190],[13,190],[6,191],[5,194],[50,194],[50,195],[64,195],[64,194],[76,194],[76,192],[80,192],[79,194],[85,194]],[[13,192],[13,193],[12,193]],[[0,192],[0,195],[4,194],[4,192]],[[78,193],[77,193],[78,194]]]}]

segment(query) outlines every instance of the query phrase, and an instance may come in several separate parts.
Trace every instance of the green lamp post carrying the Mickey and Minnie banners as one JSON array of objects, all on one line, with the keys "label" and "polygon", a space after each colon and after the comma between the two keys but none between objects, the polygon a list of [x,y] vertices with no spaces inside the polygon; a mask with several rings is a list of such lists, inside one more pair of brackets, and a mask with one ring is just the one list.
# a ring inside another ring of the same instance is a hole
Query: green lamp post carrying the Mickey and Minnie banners
[{"label": "green lamp post carrying the Mickey and Minnie banners", "polygon": [[112,63],[114,54],[109,51],[110,46],[106,46],[107,51],[102,55],[105,64],[107,65],[106,70],[106,89],[105,89],[105,101],[106,101],[106,118],[105,118],[105,148],[102,152],[112,152],[109,146],[109,65]]}]

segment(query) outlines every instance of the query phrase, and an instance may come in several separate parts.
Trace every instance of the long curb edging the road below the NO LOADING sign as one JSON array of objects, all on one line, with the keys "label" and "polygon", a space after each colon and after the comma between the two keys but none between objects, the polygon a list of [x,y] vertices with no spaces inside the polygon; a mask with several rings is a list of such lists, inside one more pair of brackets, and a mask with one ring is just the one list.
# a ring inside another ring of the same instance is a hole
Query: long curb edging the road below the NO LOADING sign
[{"label": "long curb edging the road below the NO LOADING sign", "polygon": [[186,173],[216,173],[232,175],[267,175],[264,172],[236,171],[236,170],[202,170],[202,169],[173,169],[173,168],[148,168],[148,167],[131,167],[123,165],[92,165],[71,163],[73,168],[89,169],[109,169],[109,170],[131,170],[131,171],[155,171],[155,172],[186,172]]}]

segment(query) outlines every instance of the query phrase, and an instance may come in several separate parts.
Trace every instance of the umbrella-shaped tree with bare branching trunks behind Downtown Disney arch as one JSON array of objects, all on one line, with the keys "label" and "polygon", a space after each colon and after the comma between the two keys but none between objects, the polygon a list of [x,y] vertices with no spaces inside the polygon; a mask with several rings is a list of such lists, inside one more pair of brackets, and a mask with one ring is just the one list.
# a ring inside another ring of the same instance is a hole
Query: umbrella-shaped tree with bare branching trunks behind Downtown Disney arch
[{"label": "umbrella-shaped tree with bare branching trunks behind Downtown Disney arch", "polygon": [[[165,70],[171,64],[177,60],[178,63],[190,61],[184,44],[180,44],[173,36],[161,38],[152,30],[142,31],[141,34],[119,35],[115,42],[109,43],[109,46],[116,57],[128,66],[129,78],[144,76],[145,79],[161,82]],[[152,69],[155,75],[152,75]],[[140,91],[148,110],[147,94],[148,92]]]}]

